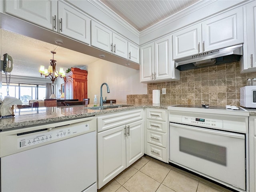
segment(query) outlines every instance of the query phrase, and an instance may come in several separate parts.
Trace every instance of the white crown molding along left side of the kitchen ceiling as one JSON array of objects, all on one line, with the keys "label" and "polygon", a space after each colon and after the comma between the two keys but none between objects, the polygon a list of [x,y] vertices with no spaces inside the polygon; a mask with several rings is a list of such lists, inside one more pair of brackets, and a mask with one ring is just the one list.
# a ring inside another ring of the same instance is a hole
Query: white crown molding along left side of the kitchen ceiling
[{"label": "white crown molding along left side of the kitchen ceiling", "polygon": [[110,16],[113,20],[118,22],[120,25],[122,25],[124,28],[132,32],[135,36],[138,38],[140,37],[140,32],[136,30],[133,26],[131,26],[128,22],[126,22],[123,18],[118,16],[115,12],[113,12],[110,8],[108,8],[105,4],[103,4],[99,0],[87,0],[92,5],[96,6],[99,10]]}]

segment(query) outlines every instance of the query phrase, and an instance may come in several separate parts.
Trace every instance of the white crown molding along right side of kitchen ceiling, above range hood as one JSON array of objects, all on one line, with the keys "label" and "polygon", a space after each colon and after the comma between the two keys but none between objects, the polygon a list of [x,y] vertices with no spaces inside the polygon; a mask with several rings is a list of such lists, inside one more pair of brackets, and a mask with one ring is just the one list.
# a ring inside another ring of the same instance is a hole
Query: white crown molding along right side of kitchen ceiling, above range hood
[{"label": "white crown molding along right side of kitchen ceiling, above range hood", "polygon": [[180,10],[179,12],[177,12],[176,14],[173,14],[171,16],[169,16],[168,18],[165,18],[164,20],[154,24],[153,26],[150,26],[149,28],[146,28],[145,30],[140,32],[140,37],[147,35],[167,24],[170,24],[192,12],[197,11],[198,9],[201,9],[209,4],[212,4],[213,2],[216,2],[217,0],[200,0],[199,2],[192,4],[191,6],[188,6],[187,8]]}]

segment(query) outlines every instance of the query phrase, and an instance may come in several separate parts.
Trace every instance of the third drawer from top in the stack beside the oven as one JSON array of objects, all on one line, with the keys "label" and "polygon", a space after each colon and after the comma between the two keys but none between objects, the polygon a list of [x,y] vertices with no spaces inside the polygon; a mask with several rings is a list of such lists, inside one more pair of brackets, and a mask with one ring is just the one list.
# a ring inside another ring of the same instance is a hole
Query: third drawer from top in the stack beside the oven
[{"label": "third drawer from top in the stack beside the oven", "polygon": [[147,141],[149,143],[166,148],[166,134],[165,133],[159,133],[156,131],[147,130],[147,138],[148,138]]}]

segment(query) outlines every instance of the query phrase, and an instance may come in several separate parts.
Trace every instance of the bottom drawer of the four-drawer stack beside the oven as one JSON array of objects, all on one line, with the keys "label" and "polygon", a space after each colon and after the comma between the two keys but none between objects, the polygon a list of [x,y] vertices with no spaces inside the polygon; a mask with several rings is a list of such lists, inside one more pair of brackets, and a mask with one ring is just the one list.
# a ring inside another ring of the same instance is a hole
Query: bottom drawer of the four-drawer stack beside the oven
[{"label": "bottom drawer of the four-drawer stack beside the oven", "polygon": [[166,148],[147,143],[147,155],[166,162]]}]

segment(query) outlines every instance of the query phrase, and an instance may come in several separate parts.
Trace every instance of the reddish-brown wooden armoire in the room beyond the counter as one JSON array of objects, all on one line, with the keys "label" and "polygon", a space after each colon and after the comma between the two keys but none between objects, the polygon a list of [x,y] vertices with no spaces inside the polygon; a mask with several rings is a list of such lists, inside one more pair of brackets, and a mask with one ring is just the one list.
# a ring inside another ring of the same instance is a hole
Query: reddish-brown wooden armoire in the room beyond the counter
[{"label": "reddish-brown wooden armoire in the room beyond the counter", "polygon": [[65,99],[78,99],[82,101],[87,98],[87,71],[79,68],[71,68],[66,74]]}]

